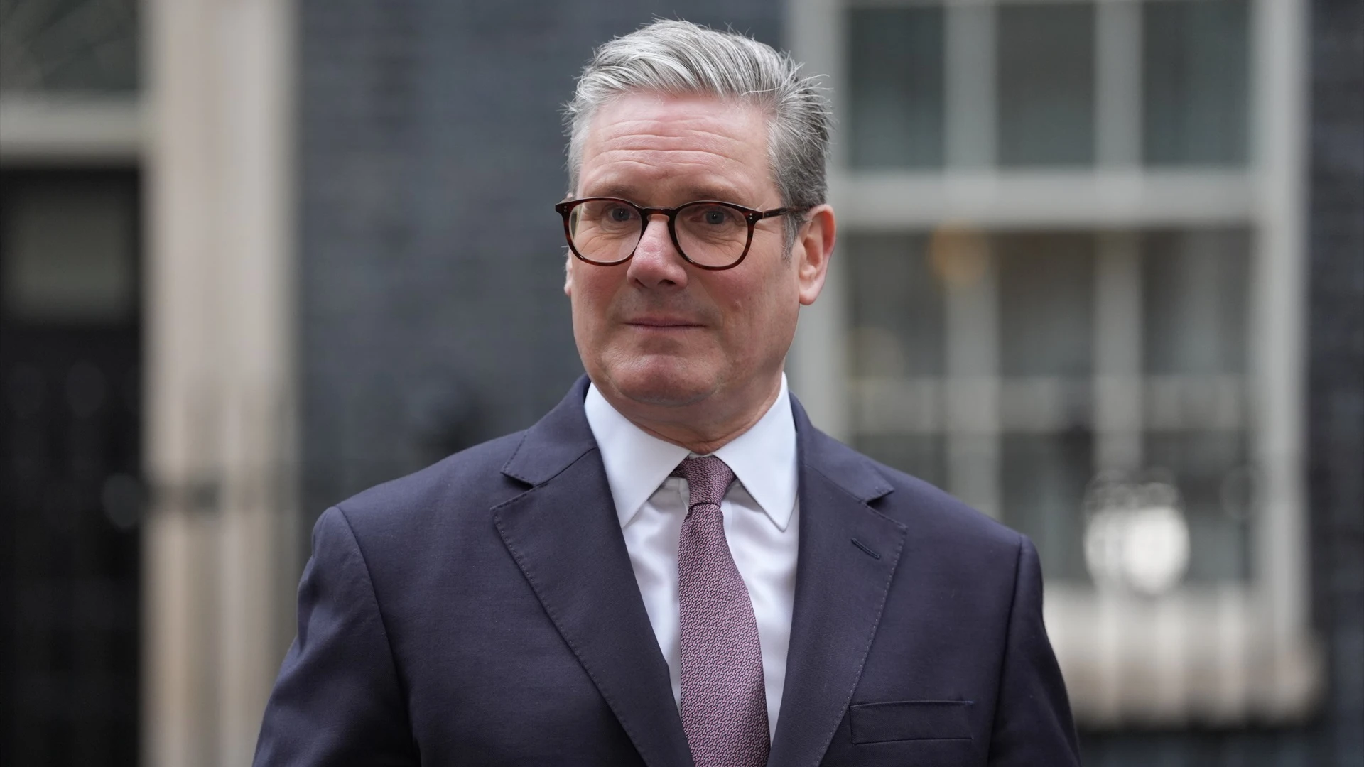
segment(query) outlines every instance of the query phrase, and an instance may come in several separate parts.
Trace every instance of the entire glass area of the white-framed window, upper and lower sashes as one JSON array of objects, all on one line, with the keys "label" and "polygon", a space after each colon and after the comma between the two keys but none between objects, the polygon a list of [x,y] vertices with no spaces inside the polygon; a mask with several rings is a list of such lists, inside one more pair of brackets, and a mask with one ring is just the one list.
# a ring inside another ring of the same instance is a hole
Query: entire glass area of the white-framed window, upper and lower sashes
[{"label": "entire glass area of the white-framed window, upper and lower sashes", "polygon": [[[964,145],[1003,172],[1087,171],[1101,143],[1148,168],[1248,161],[1249,0],[857,5],[855,169],[945,167],[956,194]],[[1105,121],[1113,135],[1097,135],[1101,97],[1124,120]],[[949,106],[970,128],[982,105],[979,139],[945,135]],[[1083,227],[973,228],[971,248],[884,228],[846,239],[854,444],[998,513],[1049,576],[1144,594],[1252,577],[1252,228]],[[979,258],[944,255],[963,250]]]}]

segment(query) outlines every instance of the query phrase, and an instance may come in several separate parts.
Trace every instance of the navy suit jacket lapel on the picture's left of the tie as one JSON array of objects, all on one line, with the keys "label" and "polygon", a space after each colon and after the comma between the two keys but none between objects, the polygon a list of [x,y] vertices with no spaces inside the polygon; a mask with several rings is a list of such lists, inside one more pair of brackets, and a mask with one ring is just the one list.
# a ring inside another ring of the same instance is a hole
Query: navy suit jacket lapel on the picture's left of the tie
[{"label": "navy suit jacket lapel on the picture's left of the tie", "polygon": [[689,767],[686,734],[582,412],[587,378],[503,474],[532,487],[494,509],[507,551],[649,767]]}]

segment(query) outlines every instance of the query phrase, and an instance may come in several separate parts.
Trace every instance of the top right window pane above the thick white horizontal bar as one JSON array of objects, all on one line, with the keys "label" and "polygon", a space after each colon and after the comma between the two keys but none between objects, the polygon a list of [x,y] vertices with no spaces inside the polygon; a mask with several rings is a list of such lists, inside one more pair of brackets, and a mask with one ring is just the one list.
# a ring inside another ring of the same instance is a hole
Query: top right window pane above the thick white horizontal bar
[{"label": "top right window pane above the thick white horizontal bar", "polygon": [[1146,161],[1237,165],[1247,154],[1248,4],[1143,5]]}]

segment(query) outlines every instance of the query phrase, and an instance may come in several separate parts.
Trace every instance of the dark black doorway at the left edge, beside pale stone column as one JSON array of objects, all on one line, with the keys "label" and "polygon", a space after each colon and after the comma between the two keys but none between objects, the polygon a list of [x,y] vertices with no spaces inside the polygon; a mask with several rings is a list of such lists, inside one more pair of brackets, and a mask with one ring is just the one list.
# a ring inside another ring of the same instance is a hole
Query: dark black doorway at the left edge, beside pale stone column
[{"label": "dark black doorway at the left edge, beside pale stone column", "polygon": [[0,169],[0,764],[136,764],[139,191]]}]

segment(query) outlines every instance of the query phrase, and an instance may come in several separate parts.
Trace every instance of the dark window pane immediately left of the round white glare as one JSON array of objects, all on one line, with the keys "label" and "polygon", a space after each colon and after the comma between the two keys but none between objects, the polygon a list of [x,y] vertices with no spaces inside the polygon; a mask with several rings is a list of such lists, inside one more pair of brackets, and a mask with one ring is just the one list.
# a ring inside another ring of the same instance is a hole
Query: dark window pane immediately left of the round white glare
[{"label": "dark window pane immediately left of the round white glare", "polygon": [[1093,449],[1084,429],[1001,438],[1004,523],[1033,538],[1048,577],[1088,579],[1080,536]]}]

